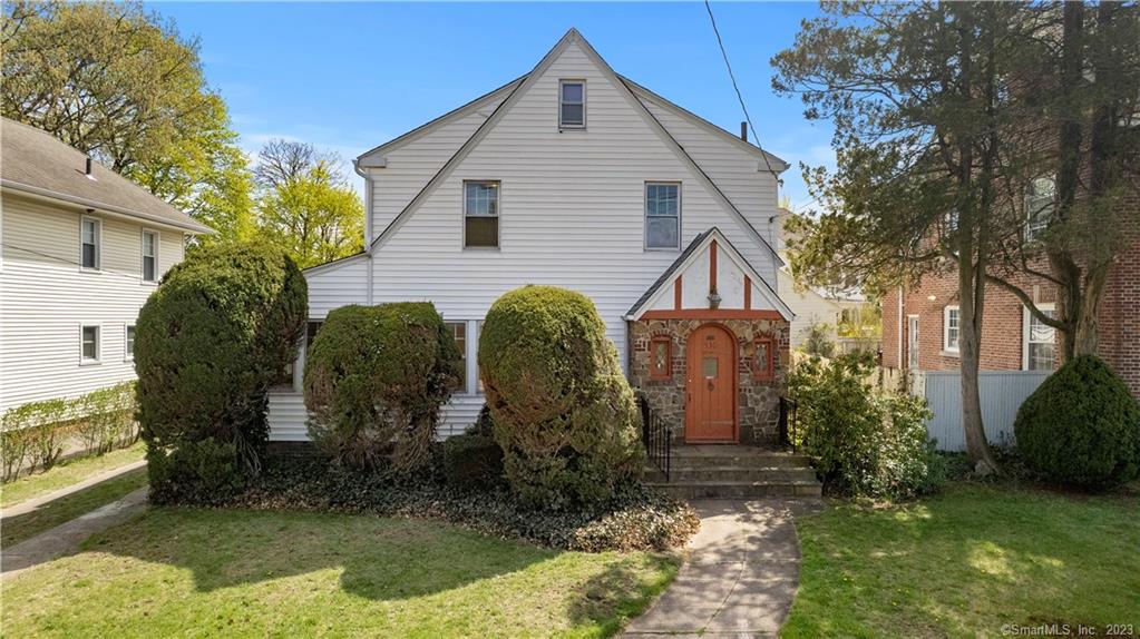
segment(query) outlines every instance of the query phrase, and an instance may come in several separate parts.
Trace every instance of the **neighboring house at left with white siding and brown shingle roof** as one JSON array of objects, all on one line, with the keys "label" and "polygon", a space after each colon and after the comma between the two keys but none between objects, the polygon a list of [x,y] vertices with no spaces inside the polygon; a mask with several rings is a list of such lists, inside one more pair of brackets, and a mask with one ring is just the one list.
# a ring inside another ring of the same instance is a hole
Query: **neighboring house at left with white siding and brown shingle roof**
[{"label": "neighboring house at left with white siding and brown shingle roof", "polygon": [[7,118],[0,165],[0,412],[133,379],[139,309],[210,229]]}]

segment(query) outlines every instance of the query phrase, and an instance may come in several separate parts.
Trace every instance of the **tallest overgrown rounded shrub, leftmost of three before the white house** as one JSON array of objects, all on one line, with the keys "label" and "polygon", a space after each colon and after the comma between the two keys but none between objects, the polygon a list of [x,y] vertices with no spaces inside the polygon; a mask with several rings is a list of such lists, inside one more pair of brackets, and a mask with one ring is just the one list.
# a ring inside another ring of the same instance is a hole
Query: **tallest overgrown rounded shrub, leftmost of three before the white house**
[{"label": "tallest overgrown rounded shrub, leftmost of three before the white house", "polygon": [[[201,451],[189,451],[202,442],[231,451],[235,472],[256,474],[269,434],[267,392],[296,358],[307,305],[301,271],[264,244],[198,247],[166,273],[136,330],[138,421],[153,500],[194,492],[168,491],[165,481],[192,482],[194,467],[166,476],[154,468],[197,458]],[[198,480],[203,490],[214,483]]]}]

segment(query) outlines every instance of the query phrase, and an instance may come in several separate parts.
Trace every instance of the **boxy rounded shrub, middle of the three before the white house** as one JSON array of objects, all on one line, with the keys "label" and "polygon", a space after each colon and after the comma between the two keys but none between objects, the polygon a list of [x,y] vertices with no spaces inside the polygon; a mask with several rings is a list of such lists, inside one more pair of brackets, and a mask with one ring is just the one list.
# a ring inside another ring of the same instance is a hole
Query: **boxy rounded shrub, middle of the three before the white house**
[{"label": "boxy rounded shrub, middle of the three before the white house", "polygon": [[349,466],[424,466],[439,410],[458,387],[461,353],[430,303],[328,313],[304,367],[309,434]]}]

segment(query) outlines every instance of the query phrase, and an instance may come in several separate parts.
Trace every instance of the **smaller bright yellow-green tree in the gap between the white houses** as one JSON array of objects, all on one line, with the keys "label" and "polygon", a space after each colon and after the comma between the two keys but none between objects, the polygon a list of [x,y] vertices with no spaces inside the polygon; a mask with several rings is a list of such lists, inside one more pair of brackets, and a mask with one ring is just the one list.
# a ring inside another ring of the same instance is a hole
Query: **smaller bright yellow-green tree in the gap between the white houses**
[{"label": "smaller bright yellow-green tree in the gap between the white houses", "polygon": [[260,231],[302,269],[364,248],[364,204],[335,155],[311,145],[275,140],[258,156]]}]

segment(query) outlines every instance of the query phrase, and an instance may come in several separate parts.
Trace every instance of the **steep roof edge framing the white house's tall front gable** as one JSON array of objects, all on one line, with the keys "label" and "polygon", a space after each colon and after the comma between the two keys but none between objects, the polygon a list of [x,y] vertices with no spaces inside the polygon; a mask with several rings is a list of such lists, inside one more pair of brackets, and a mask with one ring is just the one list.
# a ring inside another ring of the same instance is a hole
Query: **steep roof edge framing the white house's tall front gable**
[{"label": "steep roof edge framing the white house's tall front gable", "polygon": [[773,248],[772,245],[768,244],[767,239],[765,239],[764,236],[760,235],[760,232],[757,231],[755,227],[752,227],[752,224],[748,221],[748,219],[744,218],[744,214],[741,213],[740,210],[736,208],[736,206],[732,203],[732,200],[730,200],[728,197],[724,194],[724,191],[722,191],[720,188],[717,187],[715,182],[712,182],[712,179],[709,178],[708,173],[706,173],[705,170],[701,169],[699,164],[697,164],[697,162],[692,158],[692,156],[690,156],[689,153],[684,149],[684,147],[681,146],[681,144],[676,140],[676,138],[674,138],[673,134],[669,133],[669,131],[665,128],[665,125],[662,125],[661,122],[658,121],[658,118],[654,117],[652,113],[650,113],[649,108],[645,107],[645,104],[641,101],[641,98],[634,95],[629,84],[627,84],[625,80],[622,80],[613,71],[613,68],[610,67],[610,65],[597,54],[597,51],[594,50],[594,48],[589,44],[589,42],[587,42],[586,39],[583,38],[583,35],[578,32],[577,28],[570,28],[565,33],[565,35],[563,35],[562,39],[559,40],[557,44],[555,44],[554,48],[551,49],[543,57],[542,60],[539,60],[539,63],[535,66],[535,68],[527,75],[522,76],[522,79],[520,79],[521,81],[519,81],[518,84],[513,85],[511,92],[506,96],[506,98],[503,101],[499,103],[499,105],[495,108],[495,112],[491,113],[491,115],[486,121],[483,121],[483,123],[478,129],[475,129],[475,132],[472,133],[472,136],[467,139],[467,141],[465,141],[457,151],[455,151],[455,155],[453,155],[446,163],[443,163],[443,166],[440,167],[440,170],[431,178],[431,180],[427,181],[426,185],[424,185],[424,187],[420,190],[420,192],[417,192],[416,196],[413,197],[412,200],[404,207],[404,210],[400,211],[400,213],[388,224],[388,227],[383,231],[381,231],[380,235],[376,236],[376,239],[374,239],[372,244],[368,246],[368,251],[372,252],[375,248],[380,247],[384,241],[388,240],[389,237],[392,236],[392,234],[396,232],[396,230],[404,223],[404,221],[408,216],[410,216],[412,212],[414,212],[420,206],[420,204],[432,191],[435,190],[435,187],[438,187],[439,183],[442,182],[451,173],[451,171],[456,167],[456,165],[458,165],[459,162],[462,162],[463,158],[466,157],[469,153],[471,153],[471,149],[473,149],[479,144],[479,141],[483,139],[487,132],[495,126],[495,124],[502,118],[503,114],[506,113],[506,110],[508,110],[511,106],[513,106],[519,96],[529,90],[535,84],[535,82],[537,82],[538,79],[543,75],[546,68],[572,42],[581,44],[581,48],[586,52],[586,55],[594,62],[594,64],[598,66],[598,68],[602,71],[604,75],[609,76],[611,83],[619,90],[619,92],[621,92],[626,97],[630,106],[645,120],[646,123],[649,123],[650,128],[653,129],[654,132],[657,132],[657,134],[661,138],[661,140],[665,141],[666,145],[668,145],[674,150],[674,153],[682,161],[682,163],[685,164],[693,172],[693,174],[701,182],[705,183],[706,188],[708,188],[710,194],[714,196],[714,199],[718,200],[720,205],[724,206],[725,210],[736,219],[736,221],[741,224],[741,227],[746,231],[750,231],[750,235],[758,240],[760,246],[767,248],[768,252],[771,252],[772,257],[776,263],[782,264],[783,260],[780,257],[780,254],[776,253],[775,248]]}]

